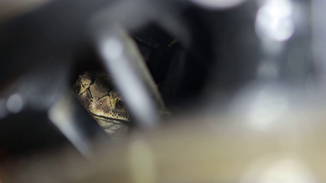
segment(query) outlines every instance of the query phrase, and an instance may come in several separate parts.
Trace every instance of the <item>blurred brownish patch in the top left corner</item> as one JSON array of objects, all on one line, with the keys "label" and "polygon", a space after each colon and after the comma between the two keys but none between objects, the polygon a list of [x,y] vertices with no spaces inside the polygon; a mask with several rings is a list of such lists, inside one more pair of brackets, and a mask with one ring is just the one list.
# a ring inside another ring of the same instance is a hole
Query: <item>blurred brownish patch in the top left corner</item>
[{"label": "blurred brownish patch in the top left corner", "polygon": [[51,0],[0,1],[0,22],[27,13]]}]

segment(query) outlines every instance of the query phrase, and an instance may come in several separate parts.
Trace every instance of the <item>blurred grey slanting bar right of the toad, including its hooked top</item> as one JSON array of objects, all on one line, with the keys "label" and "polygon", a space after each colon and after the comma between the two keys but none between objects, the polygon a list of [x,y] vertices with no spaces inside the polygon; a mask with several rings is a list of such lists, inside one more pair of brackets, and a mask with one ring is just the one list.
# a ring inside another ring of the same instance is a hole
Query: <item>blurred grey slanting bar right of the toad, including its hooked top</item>
[{"label": "blurred grey slanting bar right of the toad, including its hooked top", "polygon": [[188,46],[186,26],[173,16],[177,11],[172,4],[147,0],[118,2],[97,12],[90,22],[106,70],[113,76],[136,121],[143,126],[153,126],[158,114],[167,112],[144,59],[125,32],[156,21]]}]

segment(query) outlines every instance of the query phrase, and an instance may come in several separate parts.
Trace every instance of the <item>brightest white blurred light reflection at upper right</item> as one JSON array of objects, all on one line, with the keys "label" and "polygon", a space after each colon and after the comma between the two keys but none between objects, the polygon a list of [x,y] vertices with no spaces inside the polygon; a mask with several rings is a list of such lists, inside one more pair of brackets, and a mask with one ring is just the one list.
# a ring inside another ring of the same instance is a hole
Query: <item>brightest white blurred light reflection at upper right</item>
[{"label": "brightest white blurred light reflection at upper right", "polygon": [[256,16],[256,33],[265,40],[286,41],[294,32],[292,4],[288,0],[267,0]]}]

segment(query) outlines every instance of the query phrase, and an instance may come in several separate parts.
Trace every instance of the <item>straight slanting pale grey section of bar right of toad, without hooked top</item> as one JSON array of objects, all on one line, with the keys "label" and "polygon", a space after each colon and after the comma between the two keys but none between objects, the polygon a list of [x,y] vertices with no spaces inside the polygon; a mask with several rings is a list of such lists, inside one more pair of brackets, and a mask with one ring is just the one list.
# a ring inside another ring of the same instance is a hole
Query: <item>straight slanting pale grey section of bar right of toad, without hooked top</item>
[{"label": "straight slanting pale grey section of bar right of toad, without hooked top", "polygon": [[158,110],[165,109],[164,103],[136,45],[122,30],[115,33],[106,30],[97,40],[106,70],[132,115],[145,127],[156,124]]}]

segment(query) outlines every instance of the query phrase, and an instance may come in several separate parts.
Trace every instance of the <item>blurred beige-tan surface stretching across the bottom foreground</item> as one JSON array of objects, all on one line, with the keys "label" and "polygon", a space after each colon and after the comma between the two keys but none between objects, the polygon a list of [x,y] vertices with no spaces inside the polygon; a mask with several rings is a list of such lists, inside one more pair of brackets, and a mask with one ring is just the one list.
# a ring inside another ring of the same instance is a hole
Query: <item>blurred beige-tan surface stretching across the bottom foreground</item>
[{"label": "blurred beige-tan surface stretching across the bottom foreground", "polygon": [[185,117],[119,144],[99,143],[91,164],[56,150],[9,162],[1,176],[8,182],[323,182],[324,111],[289,112],[264,133],[241,116]]}]

